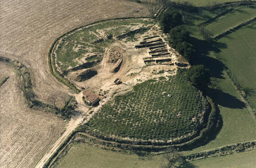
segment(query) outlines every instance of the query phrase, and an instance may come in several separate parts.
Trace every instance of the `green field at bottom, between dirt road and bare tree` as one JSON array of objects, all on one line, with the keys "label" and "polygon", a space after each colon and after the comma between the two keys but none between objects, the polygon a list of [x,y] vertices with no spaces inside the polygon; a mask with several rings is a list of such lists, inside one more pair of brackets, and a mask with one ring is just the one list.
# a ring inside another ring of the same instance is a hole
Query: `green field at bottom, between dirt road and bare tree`
[{"label": "green field at bottom, between dirt road and bare tree", "polygon": [[[101,150],[86,143],[72,145],[66,156],[57,165],[58,168],[155,168],[160,167],[162,157],[139,158],[137,155],[121,154]],[[55,167],[55,166],[54,166]]]}]

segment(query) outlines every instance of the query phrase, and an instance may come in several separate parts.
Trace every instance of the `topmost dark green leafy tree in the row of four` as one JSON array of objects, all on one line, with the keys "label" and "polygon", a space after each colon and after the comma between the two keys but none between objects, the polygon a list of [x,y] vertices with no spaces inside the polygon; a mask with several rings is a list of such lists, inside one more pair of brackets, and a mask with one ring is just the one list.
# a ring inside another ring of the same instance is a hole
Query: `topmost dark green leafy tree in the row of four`
[{"label": "topmost dark green leafy tree in the row of four", "polygon": [[170,32],[170,30],[183,23],[182,15],[177,11],[166,11],[159,18],[159,24],[164,30],[164,33]]}]

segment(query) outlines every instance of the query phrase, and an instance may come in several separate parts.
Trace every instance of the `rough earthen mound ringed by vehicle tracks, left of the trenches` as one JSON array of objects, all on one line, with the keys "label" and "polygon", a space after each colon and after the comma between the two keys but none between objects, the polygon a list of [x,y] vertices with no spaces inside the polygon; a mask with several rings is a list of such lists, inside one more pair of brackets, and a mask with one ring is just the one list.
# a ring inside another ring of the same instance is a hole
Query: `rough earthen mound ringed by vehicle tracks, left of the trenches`
[{"label": "rough earthen mound ringed by vehicle tracks, left of the trenches", "polygon": [[110,64],[111,68],[110,72],[115,73],[118,72],[122,63],[123,63],[123,55],[125,51],[119,47],[108,48],[105,51],[105,59],[106,63]]}]

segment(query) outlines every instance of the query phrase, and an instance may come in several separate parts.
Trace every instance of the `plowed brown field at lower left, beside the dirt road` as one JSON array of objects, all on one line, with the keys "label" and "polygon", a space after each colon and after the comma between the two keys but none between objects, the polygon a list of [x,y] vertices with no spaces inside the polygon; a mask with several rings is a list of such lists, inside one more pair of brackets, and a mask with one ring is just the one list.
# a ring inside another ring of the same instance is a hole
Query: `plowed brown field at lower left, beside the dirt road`
[{"label": "plowed brown field at lower left, beside the dirt road", "polygon": [[54,115],[27,107],[16,86],[18,77],[0,62],[0,74],[10,78],[0,88],[0,167],[32,167],[65,127]]}]

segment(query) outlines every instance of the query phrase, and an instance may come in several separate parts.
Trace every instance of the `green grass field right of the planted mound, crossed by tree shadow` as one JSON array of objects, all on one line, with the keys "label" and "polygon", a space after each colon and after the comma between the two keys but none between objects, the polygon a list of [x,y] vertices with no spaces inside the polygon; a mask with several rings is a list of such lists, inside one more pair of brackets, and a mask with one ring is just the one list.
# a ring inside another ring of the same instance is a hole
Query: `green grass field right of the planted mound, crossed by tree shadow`
[{"label": "green grass field right of the planted mound, crossed by tree shadow", "polygon": [[213,100],[219,105],[223,126],[216,138],[206,145],[184,152],[185,155],[213,150],[229,144],[256,140],[256,122],[253,114],[239,98],[234,86],[226,75],[217,80]]}]

